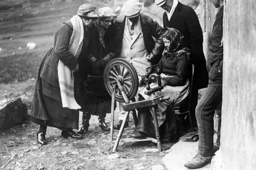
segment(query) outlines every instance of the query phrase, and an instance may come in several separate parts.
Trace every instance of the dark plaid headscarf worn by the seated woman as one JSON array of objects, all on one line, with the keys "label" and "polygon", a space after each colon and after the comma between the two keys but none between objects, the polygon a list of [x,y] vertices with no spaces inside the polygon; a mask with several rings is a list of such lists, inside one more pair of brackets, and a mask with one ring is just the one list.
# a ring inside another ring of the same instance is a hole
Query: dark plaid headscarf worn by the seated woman
[{"label": "dark plaid headscarf worn by the seated woman", "polygon": [[184,36],[177,29],[166,27],[164,29],[163,38],[170,40],[169,51],[167,51],[167,49],[164,49],[165,57],[172,60],[176,55],[181,55],[182,53],[187,53],[188,55],[190,54],[189,49],[183,47],[182,43],[184,40]]}]

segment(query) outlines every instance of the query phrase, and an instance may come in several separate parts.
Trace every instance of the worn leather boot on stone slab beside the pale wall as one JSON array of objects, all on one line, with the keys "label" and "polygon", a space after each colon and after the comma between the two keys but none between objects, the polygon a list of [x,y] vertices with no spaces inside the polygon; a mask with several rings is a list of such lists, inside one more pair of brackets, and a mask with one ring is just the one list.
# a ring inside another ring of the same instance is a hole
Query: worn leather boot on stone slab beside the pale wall
[{"label": "worn leather boot on stone slab beside the pale wall", "polygon": [[186,162],[184,166],[190,169],[202,168],[211,162],[212,156],[203,156],[197,154],[194,158],[192,158],[192,160]]}]

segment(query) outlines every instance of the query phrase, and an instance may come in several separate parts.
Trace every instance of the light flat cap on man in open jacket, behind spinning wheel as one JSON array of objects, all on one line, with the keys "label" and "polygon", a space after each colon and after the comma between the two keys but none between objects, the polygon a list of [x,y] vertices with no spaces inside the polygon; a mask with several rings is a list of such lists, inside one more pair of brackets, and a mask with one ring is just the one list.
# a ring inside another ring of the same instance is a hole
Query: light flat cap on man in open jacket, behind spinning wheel
[{"label": "light flat cap on man in open jacket, behind spinning wheel", "polygon": [[138,0],[128,0],[124,2],[122,7],[122,14],[127,18],[134,18],[140,14],[142,4]]}]

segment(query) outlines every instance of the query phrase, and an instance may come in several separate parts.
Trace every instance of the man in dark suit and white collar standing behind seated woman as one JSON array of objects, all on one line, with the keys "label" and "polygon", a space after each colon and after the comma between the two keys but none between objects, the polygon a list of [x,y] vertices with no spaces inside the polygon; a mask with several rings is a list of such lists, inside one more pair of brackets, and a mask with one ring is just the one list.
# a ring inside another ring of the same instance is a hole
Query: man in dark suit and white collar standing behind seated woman
[{"label": "man in dark suit and white collar standing behind seated woman", "polygon": [[196,12],[178,0],[155,0],[157,7],[163,8],[165,27],[178,29],[184,36],[183,45],[190,49],[190,60],[195,66],[191,96],[191,120],[196,127],[195,108],[198,102],[198,89],[208,85],[208,72],[203,52],[203,33]]}]

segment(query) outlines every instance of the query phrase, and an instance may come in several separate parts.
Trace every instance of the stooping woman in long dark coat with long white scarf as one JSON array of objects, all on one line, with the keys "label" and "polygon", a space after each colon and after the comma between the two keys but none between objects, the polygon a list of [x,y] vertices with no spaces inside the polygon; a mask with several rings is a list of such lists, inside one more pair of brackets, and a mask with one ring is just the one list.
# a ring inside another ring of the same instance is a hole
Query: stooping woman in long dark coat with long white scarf
[{"label": "stooping woman in long dark coat with long white scarf", "polygon": [[98,18],[96,7],[82,4],[77,15],[64,22],[54,38],[54,45],[44,56],[38,70],[32,100],[32,121],[40,128],[37,142],[46,145],[47,126],[61,129],[64,138],[82,139],[78,129],[78,60],[86,53],[87,27]]}]

